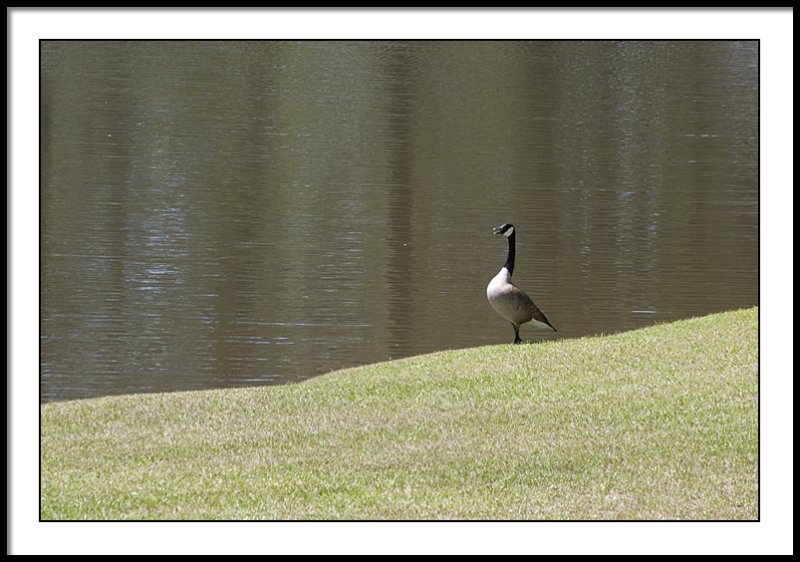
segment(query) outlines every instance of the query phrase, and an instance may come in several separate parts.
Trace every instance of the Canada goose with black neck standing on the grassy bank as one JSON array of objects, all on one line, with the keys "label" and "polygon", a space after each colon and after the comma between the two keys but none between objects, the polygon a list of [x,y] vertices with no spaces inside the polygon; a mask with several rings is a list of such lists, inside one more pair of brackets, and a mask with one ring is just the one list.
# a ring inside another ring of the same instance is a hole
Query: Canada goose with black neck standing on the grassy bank
[{"label": "Canada goose with black neck standing on the grassy bank", "polygon": [[511,322],[514,326],[514,343],[522,343],[519,337],[519,327],[525,322],[532,322],[537,330],[556,331],[547,317],[539,310],[525,291],[517,288],[511,282],[514,273],[515,237],[513,224],[504,224],[494,229],[494,234],[502,234],[508,238],[508,259],[500,269],[500,273],[489,281],[486,287],[486,298],[497,314]]}]

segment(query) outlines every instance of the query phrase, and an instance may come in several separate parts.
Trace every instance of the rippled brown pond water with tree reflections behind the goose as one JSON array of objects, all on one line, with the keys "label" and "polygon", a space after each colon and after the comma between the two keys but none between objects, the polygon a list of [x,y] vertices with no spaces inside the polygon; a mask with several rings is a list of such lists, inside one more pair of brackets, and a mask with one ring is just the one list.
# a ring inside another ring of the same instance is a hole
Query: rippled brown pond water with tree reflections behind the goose
[{"label": "rippled brown pond water with tree reflections behind the goose", "polygon": [[757,48],[44,42],[42,399],[756,304]]}]

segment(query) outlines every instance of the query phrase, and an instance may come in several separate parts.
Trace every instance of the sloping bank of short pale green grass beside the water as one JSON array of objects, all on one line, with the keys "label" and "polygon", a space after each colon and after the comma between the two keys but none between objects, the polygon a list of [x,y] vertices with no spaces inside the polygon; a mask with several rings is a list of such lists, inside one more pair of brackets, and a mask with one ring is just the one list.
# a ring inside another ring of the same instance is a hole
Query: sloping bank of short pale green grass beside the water
[{"label": "sloping bank of short pale green grass beside the water", "polygon": [[756,519],[758,309],[42,406],[43,519]]}]

